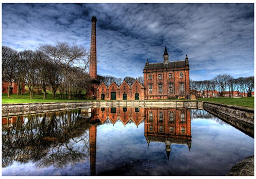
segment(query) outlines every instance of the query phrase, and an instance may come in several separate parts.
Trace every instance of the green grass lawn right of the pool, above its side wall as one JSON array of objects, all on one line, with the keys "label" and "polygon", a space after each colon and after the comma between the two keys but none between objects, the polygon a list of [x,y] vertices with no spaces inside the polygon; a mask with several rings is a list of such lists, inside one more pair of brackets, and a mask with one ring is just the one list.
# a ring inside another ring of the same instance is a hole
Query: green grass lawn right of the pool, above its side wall
[{"label": "green grass lawn right of the pool, above its side wall", "polygon": [[254,108],[254,97],[247,98],[199,98],[196,101],[209,101],[226,105],[236,105]]}]

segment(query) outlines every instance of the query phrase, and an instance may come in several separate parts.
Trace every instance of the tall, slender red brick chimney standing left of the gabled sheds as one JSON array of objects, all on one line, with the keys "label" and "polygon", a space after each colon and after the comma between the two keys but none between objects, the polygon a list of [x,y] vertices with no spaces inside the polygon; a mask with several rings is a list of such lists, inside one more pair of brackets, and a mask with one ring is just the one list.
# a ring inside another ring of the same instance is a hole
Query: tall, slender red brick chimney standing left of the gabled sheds
[{"label": "tall, slender red brick chimney standing left of the gabled sheds", "polygon": [[92,79],[97,78],[97,53],[96,53],[96,21],[97,18],[92,16],[92,35],[91,35],[91,51],[90,51],[90,72]]}]

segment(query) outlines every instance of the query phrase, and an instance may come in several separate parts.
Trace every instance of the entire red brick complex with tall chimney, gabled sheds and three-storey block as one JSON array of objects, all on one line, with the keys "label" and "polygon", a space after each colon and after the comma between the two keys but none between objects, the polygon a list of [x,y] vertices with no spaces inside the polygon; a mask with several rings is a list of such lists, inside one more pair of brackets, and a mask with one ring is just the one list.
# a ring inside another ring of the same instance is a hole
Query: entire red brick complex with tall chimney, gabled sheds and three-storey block
[{"label": "entire red brick complex with tall chimney, gabled sheds and three-storey block", "polygon": [[96,17],[92,17],[92,34],[90,50],[90,77],[92,86],[88,96],[105,100],[143,100],[143,99],[190,99],[189,90],[189,58],[185,60],[169,62],[167,49],[164,49],[164,62],[145,64],[144,86],[136,80],[129,86],[123,82],[120,86],[114,82],[106,86],[99,85],[97,81],[97,53],[96,53]]}]

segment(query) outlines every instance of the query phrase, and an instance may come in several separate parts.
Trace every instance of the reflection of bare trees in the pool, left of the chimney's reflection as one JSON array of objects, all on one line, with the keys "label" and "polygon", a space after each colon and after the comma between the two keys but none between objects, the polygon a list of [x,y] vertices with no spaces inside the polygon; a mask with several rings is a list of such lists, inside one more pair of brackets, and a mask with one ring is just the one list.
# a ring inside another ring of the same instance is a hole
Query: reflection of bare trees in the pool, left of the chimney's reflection
[{"label": "reflection of bare trees in the pool, left of the chimney's reflection", "polygon": [[12,128],[8,128],[8,123],[3,124],[2,167],[13,161],[32,161],[38,168],[50,165],[62,168],[88,160],[90,123],[81,120],[80,113],[81,110],[73,110],[17,116]]}]

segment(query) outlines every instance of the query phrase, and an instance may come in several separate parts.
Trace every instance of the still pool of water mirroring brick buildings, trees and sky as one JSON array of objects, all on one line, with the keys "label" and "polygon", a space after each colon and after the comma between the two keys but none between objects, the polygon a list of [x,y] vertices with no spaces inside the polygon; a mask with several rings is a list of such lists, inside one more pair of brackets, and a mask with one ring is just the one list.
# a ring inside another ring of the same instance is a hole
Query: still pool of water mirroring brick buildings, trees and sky
[{"label": "still pool of water mirroring brick buildings, trees and sky", "polygon": [[254,139],[203,110],[90,108],[2,118],[2,175],[226,175]]}]

